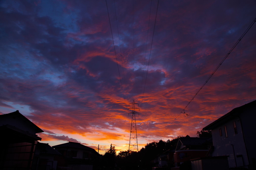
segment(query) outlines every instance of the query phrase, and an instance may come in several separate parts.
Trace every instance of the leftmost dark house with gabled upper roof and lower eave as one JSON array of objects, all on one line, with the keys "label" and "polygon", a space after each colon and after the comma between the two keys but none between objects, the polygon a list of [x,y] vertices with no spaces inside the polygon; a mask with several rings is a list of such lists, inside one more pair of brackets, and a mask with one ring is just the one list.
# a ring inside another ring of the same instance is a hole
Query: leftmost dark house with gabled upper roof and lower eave
[{"label": "leftmost dark house with gabled upper roof and lower eave", "polygon": [[36,134],[44,132],[17,110],[0,115],[0,169],[30,170],[35,146],[40,140]]}]

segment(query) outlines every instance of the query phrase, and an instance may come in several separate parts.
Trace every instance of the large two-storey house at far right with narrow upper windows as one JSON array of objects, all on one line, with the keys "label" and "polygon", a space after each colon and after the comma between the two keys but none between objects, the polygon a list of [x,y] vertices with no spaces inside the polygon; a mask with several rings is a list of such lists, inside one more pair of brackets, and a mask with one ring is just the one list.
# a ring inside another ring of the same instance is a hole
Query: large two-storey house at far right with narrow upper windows
[{"label": "large two-storey house at far right with narrow upper windows", "polygon": [[229,167],[256,169],[256,100],[234,108],[204,130],[212,130],[212,156],[228,156]]}]

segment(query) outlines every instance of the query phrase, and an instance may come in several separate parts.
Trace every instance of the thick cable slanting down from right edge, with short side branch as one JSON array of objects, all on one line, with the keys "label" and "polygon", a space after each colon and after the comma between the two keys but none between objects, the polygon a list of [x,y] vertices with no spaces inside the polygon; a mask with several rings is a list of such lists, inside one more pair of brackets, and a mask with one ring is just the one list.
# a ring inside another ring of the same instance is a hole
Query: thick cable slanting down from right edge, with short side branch
[{"label": "thick cable slanting down from right edge, with short side branch", "polygon": [[[208,82],[208,80],[210,80],[210,78],[212,77],[212,75],[214,75],[214,73],[218,70],[218,68],[221,66],[221,64],[226,60],[227,56],[229,56],[229,54],[234,50],[234,48],[237,46],[237,44],[241,41],[241,39],[245,36],[245,34],[249,31],[249,29],[252,27],[252,25],[256,22],[256,18],[252,21],[252,23],[249,25],[249,27],[244,31],[244,33],[241,35],[241,37],[236,41],[236,43],[234,44],[234,46],[229,50],[229,52],[226,54],[226,56],[222,59],[221,63],[219,63],[219,65],[215,68],[215,70],[212,72],[212,74],[209,76],[209,78],[206,80],[206,82],[204,82],[204,84],[200,87],[200,89],[196,92],[196,94],[193,96],[193,98],[188,102],[188,104],[184,107],[184,109],[176,116],[176,118],[174,120],[177,119],[177,117],[183,113],[185,113],[185,108],[188,107],[188,105],[192,102],[192,100],[195,98],[195,96],[199,93],[200,90],[202,90],[202,88],[204,87],[204,85]],[[183,112],[184,111],[184,112]],[[192,116],[189,114],[186,114],[188,116]],[[202,118],[202,117],[197,117],[197,116],[193,116],[196,118]],[[208,119],[208,118],[202,118],[202,119]],[[172,123],[174,122],[174,120],[172,121]],[[216,120],[216,119],[214,119]],[[170,123],[169,126],[163,131],[163,133],[170,127],[170,125],[172,124]],[[163,134],[162,133],[162,134]],[[161,136],[162,136],[161,134]]]}]

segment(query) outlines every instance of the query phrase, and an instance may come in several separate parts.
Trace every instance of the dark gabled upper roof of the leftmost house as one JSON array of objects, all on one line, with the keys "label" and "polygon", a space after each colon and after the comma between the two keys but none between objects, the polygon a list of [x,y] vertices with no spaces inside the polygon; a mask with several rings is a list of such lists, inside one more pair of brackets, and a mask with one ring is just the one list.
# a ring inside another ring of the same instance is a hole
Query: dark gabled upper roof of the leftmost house
[{"label": "dark gabled upper roof of the leftmost house", "polygon": [[[40,129],[37,125],[35,125],[33,122],[31,122],[29,119],[27,119],[25,116],[23,116],[18,110],[16,110],[15,112],[11,112],[8,114],[3,114],[0,115],[0,119],[3,118],[19,118],[20,120],[25,121],[26,123],[30,124],[31,127],[33,127],[36,131],[36,133],[41,133],[44,132],[42,129]],[[7,123],[8,124],[8,123]]]}]

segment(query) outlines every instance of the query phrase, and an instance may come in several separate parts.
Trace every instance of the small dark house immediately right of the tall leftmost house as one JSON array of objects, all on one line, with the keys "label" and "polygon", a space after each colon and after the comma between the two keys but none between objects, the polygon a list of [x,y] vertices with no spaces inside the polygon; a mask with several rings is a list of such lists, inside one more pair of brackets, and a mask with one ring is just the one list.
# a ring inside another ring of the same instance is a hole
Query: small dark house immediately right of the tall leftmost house
[{"label": "small dark house immediately right of the tall leftmost house", "polygon": [[57,169],[57,163],[64,162],[63,155],[53,149],[48,143],[37,142],[33,159],[33,170]]}]

